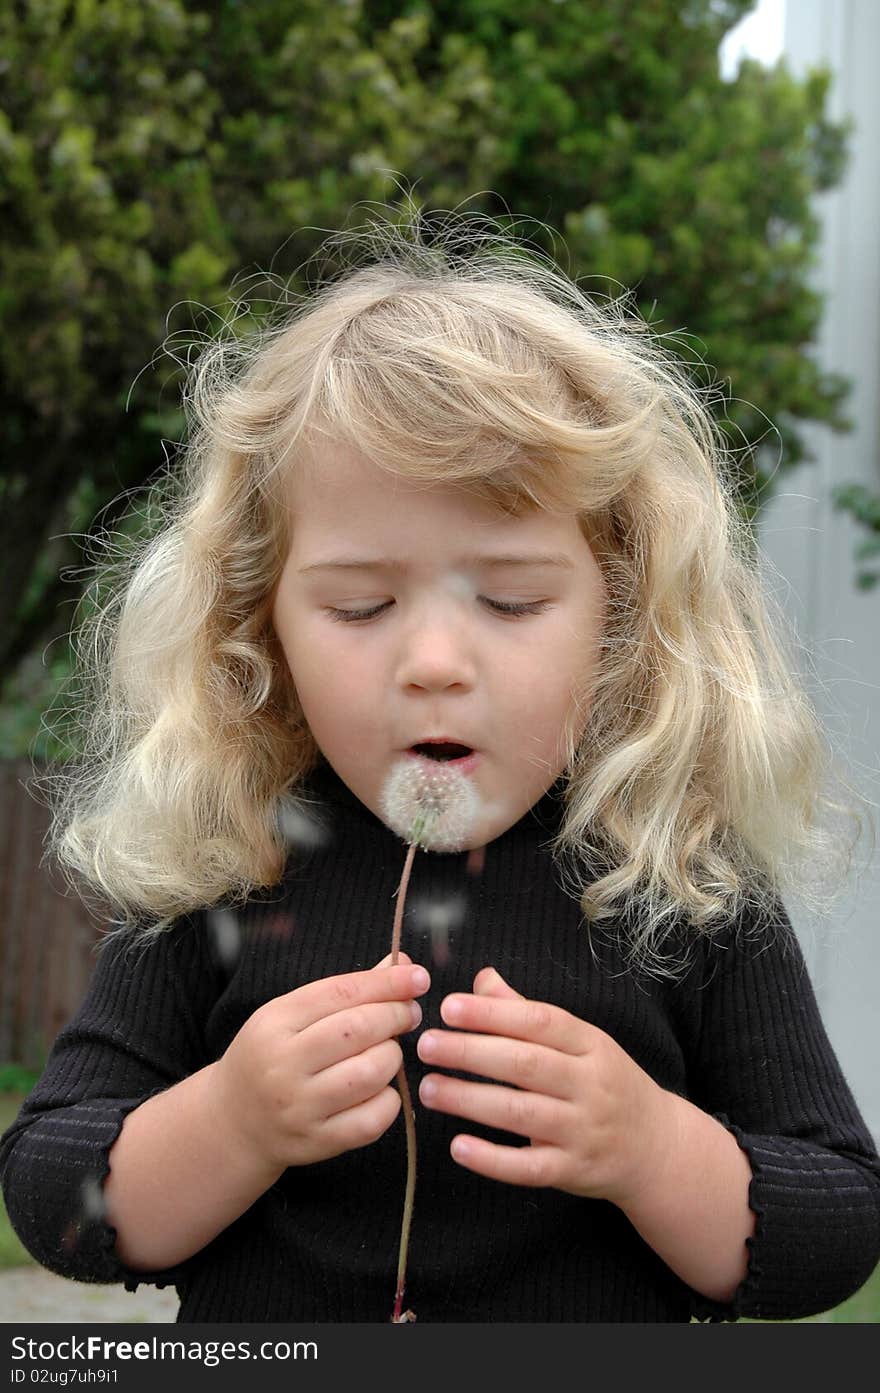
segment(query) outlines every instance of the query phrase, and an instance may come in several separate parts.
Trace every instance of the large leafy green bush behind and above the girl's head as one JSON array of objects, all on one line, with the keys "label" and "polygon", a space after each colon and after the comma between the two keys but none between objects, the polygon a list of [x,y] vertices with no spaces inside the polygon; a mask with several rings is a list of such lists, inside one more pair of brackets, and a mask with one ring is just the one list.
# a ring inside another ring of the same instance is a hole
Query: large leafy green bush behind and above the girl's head
[{"label": "large leafy green bush behind and above the girl's head", "polygon": [[0,6],[0,754],[77,752],[39,720],[77,568],[185,436],[191,352],[301,291],[363,201],[510,210],[586,288],[631,288],[723,384],[748,513],[802,422],[844,429],[810,273],[847,125],[826,71],[721,78],[752,3]]}]

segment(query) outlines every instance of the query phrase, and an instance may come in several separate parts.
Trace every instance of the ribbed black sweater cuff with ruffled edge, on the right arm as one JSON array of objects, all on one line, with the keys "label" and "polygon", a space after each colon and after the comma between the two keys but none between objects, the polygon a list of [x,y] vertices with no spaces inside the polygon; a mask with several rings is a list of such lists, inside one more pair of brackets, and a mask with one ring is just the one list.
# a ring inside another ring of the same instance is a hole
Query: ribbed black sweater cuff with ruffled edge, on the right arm
[{"label": "ribbed black sweater cuff with ruffled edge, on the right arm", "polygon": [[840,1305],[870,1276],[877,1251],[877,1187],[838,1152],[791,1137],[744,1133],[713,1114],[752,1167],[748,1268],[728,1302],[695,1293],[698,1321],[799,1321]]}]

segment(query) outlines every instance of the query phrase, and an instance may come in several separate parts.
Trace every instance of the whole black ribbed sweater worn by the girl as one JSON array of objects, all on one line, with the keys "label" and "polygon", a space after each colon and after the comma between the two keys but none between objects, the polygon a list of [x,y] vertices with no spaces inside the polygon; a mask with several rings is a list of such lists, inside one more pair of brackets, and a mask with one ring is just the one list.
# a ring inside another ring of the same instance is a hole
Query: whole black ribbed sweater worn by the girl
[{"label": "whole black ribbed sweater worn by the girl", "polygon": [[[324,844],[294,850],[283,880],[244,908],[178,919],[153,944],[111,936],[81,1009],[0,1142],[11,1222],[28,1250],[81,1282],[173,1283],[178,1321],[387,1322],[405,1178],[402,1119],[373,1145],[287,1170],[187,1262],[139,1273],[102,1213],[125,1114],[216,1060],[260,1004],[388,953],[405,846],[323,762],[311,775]],[[422,1028],[492,964],[522,995],[613,1035],[663,1088],[718,1117],[753,1170],[756,1234],[730,1304],[703,1298],[613,1204],[486,1180],[457,1166],[457,1131],[522,1145],[421,1107],[427,1073],[404,1038],[419,1173],[407,1301],[419,1321],[792,1319],[837,1305],[880,1256],[880,1165],[844,1081],[796,939],[732,925],[700,940],[678,982],[628,971],[610,936],[590,947],[547,843],[561,781],[490,843],[418,853],[402,946],[432,971]],[[461,914],[446,963],[426,905]],[[739,932],[737,932],[739,929]],[[224,1120],[216,1120],[217,1149]],[[174,1184],[174,1176],[167,1178]]]}]

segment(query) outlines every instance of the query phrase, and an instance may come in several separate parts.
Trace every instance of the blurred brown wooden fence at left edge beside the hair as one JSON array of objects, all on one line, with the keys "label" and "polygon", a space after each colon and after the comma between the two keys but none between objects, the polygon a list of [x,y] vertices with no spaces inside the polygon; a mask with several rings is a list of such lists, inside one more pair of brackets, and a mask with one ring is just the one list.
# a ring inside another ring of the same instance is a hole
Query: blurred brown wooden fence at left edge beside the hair
[{"label": "blurred brown wooden fence at left edge beside the hair", "polygon": [[0,1064],[40,1068],[86,990],[100,925],[40,866],[50,814],[26,791],[33,772],[0,761]]}]

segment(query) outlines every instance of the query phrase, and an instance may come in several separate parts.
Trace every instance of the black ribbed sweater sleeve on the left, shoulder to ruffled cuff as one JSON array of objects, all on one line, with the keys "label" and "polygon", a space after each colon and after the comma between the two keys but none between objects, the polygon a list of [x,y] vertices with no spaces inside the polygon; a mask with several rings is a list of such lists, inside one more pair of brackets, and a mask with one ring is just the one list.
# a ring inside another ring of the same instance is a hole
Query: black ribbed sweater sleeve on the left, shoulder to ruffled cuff
[{"label": "black ribbed sweater sleeve on the left, shoulder to ruffled cuff", "polygon": [[120,1262],[103,1183],[127,1114],[209,1063],[202,1022],[219,989],[201,917],[177,921],[150,943],[116,932],[102,944],[79,1010],[0,1138],[10,1222],[43,1266],[128,1290],[185,1280],[198,1254],[163,1272]]}]

